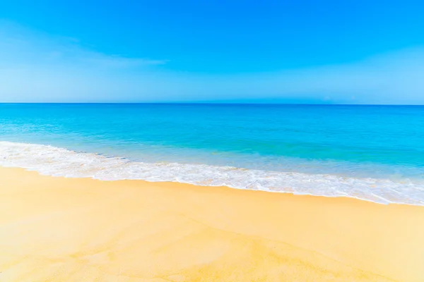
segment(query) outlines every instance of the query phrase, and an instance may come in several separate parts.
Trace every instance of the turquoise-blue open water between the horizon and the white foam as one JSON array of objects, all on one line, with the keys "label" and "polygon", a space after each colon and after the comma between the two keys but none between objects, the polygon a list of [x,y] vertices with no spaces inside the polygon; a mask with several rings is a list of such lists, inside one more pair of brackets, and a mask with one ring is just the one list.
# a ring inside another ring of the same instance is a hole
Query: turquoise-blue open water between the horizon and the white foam
[{"label": "turquoise-blue open water between the horizon and the white foam", "polygon": [[424,106],[0,104],[0,141],[147,164],[424,183]]}]

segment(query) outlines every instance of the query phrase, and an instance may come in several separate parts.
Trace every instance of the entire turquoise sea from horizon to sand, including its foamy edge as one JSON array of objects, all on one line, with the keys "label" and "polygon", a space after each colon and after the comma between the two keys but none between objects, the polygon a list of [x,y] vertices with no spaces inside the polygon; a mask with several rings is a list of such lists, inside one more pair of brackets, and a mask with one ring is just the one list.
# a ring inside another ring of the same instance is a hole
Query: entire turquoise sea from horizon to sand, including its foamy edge
[{"label": "entire turquoise sea from horizon to sand, including its foamy edge", "polygon": [[0,104],[0,165],[424,205],[424,106]]}]

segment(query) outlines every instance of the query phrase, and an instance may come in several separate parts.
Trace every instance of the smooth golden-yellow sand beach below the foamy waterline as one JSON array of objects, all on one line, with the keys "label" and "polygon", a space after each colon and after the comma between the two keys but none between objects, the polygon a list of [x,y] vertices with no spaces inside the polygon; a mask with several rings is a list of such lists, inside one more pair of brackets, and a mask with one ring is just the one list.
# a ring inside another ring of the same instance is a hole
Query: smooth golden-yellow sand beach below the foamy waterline
[{"label": "smooth golden-yellow sand beach below the foamy waterline", "polygon": [[424,281],[424,207],[0,168],[0,281]]}]

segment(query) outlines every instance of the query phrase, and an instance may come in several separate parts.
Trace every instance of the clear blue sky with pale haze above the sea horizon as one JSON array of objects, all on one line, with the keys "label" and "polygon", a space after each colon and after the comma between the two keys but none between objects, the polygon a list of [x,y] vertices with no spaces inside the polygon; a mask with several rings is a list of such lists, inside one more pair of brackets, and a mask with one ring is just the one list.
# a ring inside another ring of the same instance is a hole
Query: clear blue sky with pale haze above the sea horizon
[{"label": "clear blue sky with pale haze above the sea horizon", "polygon": [[0,102],[424,104],[424,1],[0,1]]}]

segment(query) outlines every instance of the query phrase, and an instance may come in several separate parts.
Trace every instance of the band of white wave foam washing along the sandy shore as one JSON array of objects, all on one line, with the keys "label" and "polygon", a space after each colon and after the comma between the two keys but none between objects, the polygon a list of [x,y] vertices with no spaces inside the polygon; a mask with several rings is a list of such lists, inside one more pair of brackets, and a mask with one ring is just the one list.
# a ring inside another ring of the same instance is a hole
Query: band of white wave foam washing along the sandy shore
[{"label": "band of white wave foam washing along the sandy shore", "polygon": [[151,164],[49,145],[0,142],[0,166],[28,168],[50,176],[173,181],[300,195],[355,197],[382,204],[424,205],[424,184],[407,178],[351,178],[206,164]]}]

